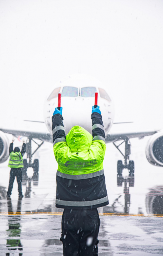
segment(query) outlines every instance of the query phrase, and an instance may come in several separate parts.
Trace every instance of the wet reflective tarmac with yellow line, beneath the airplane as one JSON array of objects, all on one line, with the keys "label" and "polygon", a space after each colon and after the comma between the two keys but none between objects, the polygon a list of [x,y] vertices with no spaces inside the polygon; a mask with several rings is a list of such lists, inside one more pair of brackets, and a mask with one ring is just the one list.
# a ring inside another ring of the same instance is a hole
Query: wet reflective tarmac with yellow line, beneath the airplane
[{"label": "wet reflective tarmac with yellow line, beneath the airplane", "polygon": [[[98,208],[100,256],[163,254],[163,168],[147,162],[144,145],[145,141],[133,142],[134,187],[129,187],[127,170],[122,187],[117,187],[116,163],[121,156],[107,145],[104,171],[110,204]],[[55,208],[57,164],[52,145],[46,143],[37,154],[39,174],[29,168],[23,175],[22,201],[16,181],[12,200],[6,200],[9,168],[7,162],[0,165],[0,255],[63,255],[63,209]]]}]

